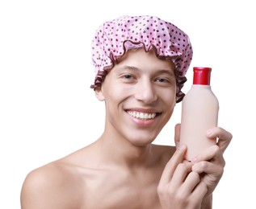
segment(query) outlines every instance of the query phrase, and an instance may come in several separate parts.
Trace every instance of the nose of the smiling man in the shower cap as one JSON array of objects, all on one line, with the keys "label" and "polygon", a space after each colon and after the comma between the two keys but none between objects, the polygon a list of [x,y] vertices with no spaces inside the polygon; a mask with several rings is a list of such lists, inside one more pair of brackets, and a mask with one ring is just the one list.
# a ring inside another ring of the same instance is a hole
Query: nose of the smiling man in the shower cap
[{"label": "nose of the smiling man in the shower cap", "polygon": [[145,104],[151,104],[157,100],[156,89],[154,88],[154,84],[150,80],[141,80],[136,84],[135,90],[135,98],[136,100],[141,100]]}]

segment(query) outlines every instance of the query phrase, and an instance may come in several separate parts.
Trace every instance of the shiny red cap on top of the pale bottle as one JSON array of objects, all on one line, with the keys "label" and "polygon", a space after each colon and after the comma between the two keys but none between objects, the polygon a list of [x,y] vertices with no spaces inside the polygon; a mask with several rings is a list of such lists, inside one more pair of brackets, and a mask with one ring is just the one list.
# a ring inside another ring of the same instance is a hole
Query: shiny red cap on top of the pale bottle
[{"label": "shiny red cap on top of the pale bottle", "polygon": [[193,84],[210,85],[212,68],[194,67]]}]

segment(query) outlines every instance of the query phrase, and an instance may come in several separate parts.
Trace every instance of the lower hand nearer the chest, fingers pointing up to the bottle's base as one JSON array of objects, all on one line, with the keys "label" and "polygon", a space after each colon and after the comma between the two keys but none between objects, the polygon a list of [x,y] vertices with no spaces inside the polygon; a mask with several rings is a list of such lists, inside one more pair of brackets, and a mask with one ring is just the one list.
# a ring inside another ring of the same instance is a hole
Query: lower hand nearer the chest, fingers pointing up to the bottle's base
[{"label": "lower hand nearer the chest, fingers pointing up to the bottle's base", "polygon": [[183,160],[187,147],[178,145],[179,130],[179,125],[176,125],[175,142],[178,148],[166,164],[157,193],[162,208],[201,208],[208,189],[200,181],[200,173],[192,170],[193,163]]}]

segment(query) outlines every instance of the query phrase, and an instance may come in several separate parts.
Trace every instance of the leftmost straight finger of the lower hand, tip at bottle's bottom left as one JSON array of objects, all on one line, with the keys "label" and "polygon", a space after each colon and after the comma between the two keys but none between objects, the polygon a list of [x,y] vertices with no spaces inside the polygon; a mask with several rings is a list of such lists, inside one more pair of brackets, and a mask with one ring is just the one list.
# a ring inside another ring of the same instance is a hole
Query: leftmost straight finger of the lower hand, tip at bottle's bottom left
[{"label": "leftmost straight finger of the lower hand, tip at bottle's bottom left", "polygon": [[170,179],[173,177],[174,171],[176,170],[178,164],[183,162],[184,154],[187,150],[186,145],[181,145],[175,151],[174,155],[170,158],[170,161],[166,163],[166,167],[162,172],[162,177],[160,179],[160,184],[166,184],[170,182]]}]

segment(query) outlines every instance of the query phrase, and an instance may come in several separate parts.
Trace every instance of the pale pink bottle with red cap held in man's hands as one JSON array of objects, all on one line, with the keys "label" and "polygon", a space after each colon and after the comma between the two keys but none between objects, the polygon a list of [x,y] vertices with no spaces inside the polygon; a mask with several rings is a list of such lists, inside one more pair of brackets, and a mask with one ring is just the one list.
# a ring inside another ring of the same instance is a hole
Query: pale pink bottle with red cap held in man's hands
[{"label": "pale pink bottle with red cap held in man's hands", "polygon": [[188,161],[216,144],[216,139],[208,139],[206,132],[217,126],[219,112],[219,102],[210,86],[212,68],[193,70],[193,85],[183,98],[180,133],[180,142],[187,145]]}]

